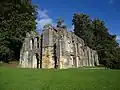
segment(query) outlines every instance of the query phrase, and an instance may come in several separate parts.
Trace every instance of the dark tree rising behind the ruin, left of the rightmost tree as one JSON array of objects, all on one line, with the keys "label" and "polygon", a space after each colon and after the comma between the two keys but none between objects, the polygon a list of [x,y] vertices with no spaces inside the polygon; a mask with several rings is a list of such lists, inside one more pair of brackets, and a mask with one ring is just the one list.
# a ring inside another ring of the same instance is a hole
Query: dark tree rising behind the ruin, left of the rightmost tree
[{"label": "dark tree rising behind the ruin, left of the rightmost tree", "polygon": [[73,15],[73,25],[74,25],[74,33],[82,38],[85,43],[93,48],[93,31],[91,25],[91,19],[88,15],[85,14],[77,14]]}]

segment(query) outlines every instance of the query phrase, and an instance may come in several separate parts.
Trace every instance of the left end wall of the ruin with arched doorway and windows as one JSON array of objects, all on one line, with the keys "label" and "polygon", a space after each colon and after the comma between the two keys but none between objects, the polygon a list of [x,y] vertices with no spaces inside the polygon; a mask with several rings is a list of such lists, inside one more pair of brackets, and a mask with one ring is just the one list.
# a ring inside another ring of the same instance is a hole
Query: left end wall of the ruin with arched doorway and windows
[{"label": "left end wall of the ruin with arched doorway and windows", "polygon": [[[19,66],[22,68],[40,67],[40,36],[35,32],[27,33],[20,51]],[[39,58],[39,60],[37,60]],[[39,64],[39,65],[37,65]]]}]

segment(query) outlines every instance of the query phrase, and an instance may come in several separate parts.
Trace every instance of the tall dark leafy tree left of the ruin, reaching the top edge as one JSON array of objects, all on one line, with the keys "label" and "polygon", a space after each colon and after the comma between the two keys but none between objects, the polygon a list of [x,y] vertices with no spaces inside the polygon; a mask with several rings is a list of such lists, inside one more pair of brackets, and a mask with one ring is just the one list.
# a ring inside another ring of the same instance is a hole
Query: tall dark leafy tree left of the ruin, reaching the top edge
[{"label": "tall dark leafy tree left of the ruin, reaching the top edge", "polygon": [[30,0],[0,1],[1,60],[18,60],[26,33],[36,29],[36,7],[29,2]]}]

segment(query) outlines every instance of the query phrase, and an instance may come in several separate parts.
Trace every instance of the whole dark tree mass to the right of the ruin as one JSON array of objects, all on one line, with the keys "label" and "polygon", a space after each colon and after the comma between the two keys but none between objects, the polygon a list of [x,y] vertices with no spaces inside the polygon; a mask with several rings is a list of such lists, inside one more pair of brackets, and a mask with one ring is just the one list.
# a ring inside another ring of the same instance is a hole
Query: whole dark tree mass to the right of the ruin
[{"label": "whole dark tree mass to the right of the ruin", "polygon": [[104,21],[90,19],[86,14],[73,15],[74,33],[85,41],[85,44],[97,50],[99,61],[110,68],[120,68],[120,47],[116,35],[111,35]]}]

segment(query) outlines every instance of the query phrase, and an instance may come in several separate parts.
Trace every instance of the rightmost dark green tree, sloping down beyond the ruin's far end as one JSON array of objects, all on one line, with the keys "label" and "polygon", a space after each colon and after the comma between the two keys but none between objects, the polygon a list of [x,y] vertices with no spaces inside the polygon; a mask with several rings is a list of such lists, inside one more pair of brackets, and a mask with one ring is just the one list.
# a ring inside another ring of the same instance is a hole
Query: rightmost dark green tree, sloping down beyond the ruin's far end
[{"label": "rightmost dark green tree, sloping down beyond the ruin's far end", "polygon": [[108,29],[105,27],[104,22],[95,19],[92,22],[93,31],[94,31],[94,46],[98,51],[100,63],[104,64],[105,66],[111,67],[114,61],[118,57],[117,47],[118,43],[116,42],[116,36],[110,35],[108,33]]}]

